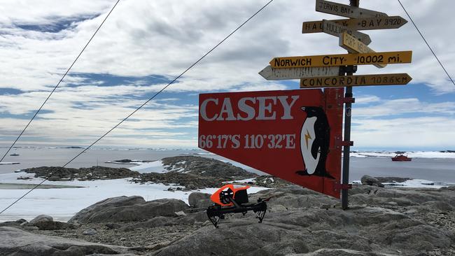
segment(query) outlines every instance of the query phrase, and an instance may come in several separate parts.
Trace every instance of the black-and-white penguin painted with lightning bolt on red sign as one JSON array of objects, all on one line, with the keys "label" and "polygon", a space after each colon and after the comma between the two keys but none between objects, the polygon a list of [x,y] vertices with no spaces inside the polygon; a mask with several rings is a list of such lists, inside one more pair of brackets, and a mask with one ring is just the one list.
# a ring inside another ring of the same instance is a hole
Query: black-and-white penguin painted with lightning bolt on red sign
[{"label": "black-and-white penguin painted with lightning bolt on red sign", "polygon": [[302,111],[307,113],[302,130],[300,131],[300,151],[305,165],[304,171],[295,173],[302,176],[321,176],[333,178],[325,170],[325,160],[330,144],[330,127],[323,108],[304,106]]}]

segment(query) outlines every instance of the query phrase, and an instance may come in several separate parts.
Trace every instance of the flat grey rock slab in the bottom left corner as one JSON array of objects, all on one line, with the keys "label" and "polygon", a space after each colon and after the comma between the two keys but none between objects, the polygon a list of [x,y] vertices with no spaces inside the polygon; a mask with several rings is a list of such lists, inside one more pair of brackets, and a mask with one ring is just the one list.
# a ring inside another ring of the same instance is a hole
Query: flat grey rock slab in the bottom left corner
[{"label": "flat grey rock slab in the bottom left corner", "polygon": [[[31,234],[14,227],[0,227],[0,255],[118,255],[132,253],[123,246],[89,243],[57,236]],[[130,254],[133,255],[133,254]]]}]

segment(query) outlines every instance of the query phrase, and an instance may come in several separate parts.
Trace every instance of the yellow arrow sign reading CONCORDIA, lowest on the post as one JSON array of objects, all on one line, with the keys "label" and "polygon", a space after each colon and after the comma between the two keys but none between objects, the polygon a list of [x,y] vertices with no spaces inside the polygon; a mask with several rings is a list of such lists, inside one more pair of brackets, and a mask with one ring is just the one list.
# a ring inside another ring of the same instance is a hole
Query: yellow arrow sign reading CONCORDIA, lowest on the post
[{"label": "yellow arrow sign reading CONCORDIA, lowest on the post", "polygon": [[406,85],[412,78],[407,73],[388,73],[362,76],[327,76],[300,79],[300,88],[346,87],[365,85]]}]

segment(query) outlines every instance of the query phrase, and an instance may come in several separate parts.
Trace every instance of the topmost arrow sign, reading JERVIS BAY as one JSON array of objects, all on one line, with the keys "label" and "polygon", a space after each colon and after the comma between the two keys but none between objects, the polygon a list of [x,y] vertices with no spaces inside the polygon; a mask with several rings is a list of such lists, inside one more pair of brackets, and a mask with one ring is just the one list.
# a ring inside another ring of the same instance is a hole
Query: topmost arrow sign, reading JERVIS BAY
[{"label": "topmost arrow sign, reading JERVIS BAY", "polygon": [[329,13],[343,17],[386,17],[386,13],[379,13],[374,10],[367,10],[355,6],[348,6],[342,3],[316,0],[316,11]]}]

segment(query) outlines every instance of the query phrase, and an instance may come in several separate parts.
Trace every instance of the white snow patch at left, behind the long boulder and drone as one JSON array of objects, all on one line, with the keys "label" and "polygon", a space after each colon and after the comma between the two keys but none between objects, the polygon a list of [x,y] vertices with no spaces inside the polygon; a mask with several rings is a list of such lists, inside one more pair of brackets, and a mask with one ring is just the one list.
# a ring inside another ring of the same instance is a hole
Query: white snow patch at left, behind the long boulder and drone
[{"label": "white snow patch at left, behind the long boulder and drone", "polygon": [[[155,163],[155,165],[158,164]],[[24,173],[0,174],[0,183],[19,183],[18,181],[20,181],[22,184],[38,184],[43,180],[41,178],[17,180],[19,176],[24,175]],[[27,173],[27,175],[34,176],[33,173]],[[45,185],[73,185],[80,186],[80,188],[50,188],[45,190],[37,188],[2,213],[0,222],[18,220],[20,218],[31,220],[40,214],[50,215],[55,220],[67,221],[83,208],[109,197],[138,195],[144,197],[146,201],[169,198],[181,199],[188,204],[188,196],[193,192],[181,190],[171,192],[167,191],[167,189],[174,187],[172,185],[167,186],[161,183],[141,185],[139,183],[131,183],[128,180],[129,178],[117,180],[45,181],[43,183]],[[251,187],[248,189],[248,193],[252,194],[266,189],[268,188]],[[212,187],[194,191],[213,194],[216,190],[218,190],[217,187]],[[29,190],[0,190],[0,206],[8,206],[27,192]]]}]

